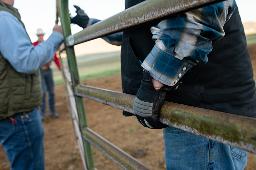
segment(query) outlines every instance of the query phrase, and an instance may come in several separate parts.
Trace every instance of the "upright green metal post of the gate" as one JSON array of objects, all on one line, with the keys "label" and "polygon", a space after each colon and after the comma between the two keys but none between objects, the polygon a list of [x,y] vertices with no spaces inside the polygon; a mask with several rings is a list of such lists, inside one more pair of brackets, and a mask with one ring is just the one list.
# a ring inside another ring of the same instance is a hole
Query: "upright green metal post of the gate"
[{"label": "upright green metal post of the gate", "polygon": [[[58,11],[60,16],[60,21],[62,25],[62,31],[64,38],[71,35],[71,29],[70,29],[70,17],[69,17],[69,11],[68,11],[68,0],[56,0],[58,5]],[[64,42],[66,39],[64,39]],[[67,54],[67,60],[68,60],[68,66],[71,74],[71,80],[72,80],[72,88],[76,85],[78,85],[79,82],[79,74],[77,69],[77,63],[75,59],[75,53],[74,53],[74,47],[65,47],[66,54]],[[86,129],[88,127],[87,118],[86,118],[86,112],[84,109],[84,103],[82,97],[75,96],[75,102],[76,102],[76,108],[77,113],[79,117],[79,125],[80,125],[80,131],[83,129]],[[93,151],[92,151],[92,145],[86,141],[83,140],[83,146],[84,146],[84,152],[86,153],[86,163],[88,166],[88,169],[95,169],[94,165],[94,158],[93,158]]]}]

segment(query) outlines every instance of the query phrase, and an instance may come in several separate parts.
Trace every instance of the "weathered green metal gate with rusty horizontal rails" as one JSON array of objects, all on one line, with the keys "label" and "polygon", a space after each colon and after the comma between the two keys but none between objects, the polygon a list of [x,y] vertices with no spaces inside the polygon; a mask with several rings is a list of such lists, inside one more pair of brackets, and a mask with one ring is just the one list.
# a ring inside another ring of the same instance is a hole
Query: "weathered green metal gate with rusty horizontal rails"
[{"label": "weathered green metal gate with rusty horizontal rails", "polygon": [[[56,23],[60,18],[64,35],[64,43],[59,49],[59,54],[61,58],[67,58],[67,63],[63,63],[63,59],[60,60],[63,82],[84,169],[96,169],[91,144],[124,169],[148,168],[88,127],[83,97],[133,113],[132,104],[135,96],[81,85],[74,46],[221,1],[147,0],[71,35],[68,0],[56,0]],[[164,102],[160,110],[160,121],[190,133],[256,153],[256,119],[254,118]]]}]

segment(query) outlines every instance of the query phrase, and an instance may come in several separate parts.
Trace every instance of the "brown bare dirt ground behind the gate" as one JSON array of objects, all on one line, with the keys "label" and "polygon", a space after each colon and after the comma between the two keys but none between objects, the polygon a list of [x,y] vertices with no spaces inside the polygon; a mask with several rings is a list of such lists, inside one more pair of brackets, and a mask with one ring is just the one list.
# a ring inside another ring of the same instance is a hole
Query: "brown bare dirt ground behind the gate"
[{"label": "brown bare dirt ground behind the gate", "polygon": [[[256,80],[256,46],[249,52]],[[113,75],[84,81],[82,84],[121,92],[121,76]],[[43,121],[45,130],[45,162],[47,170],[83,169],[70,119],[63,85],[55,86],[57,119],[47,117]],[[166,169],[162,130],[143,128],[134,117],[124,117],[122,111],[110,106],[84,99],[89,127],[137,158],[150,169]],[[104,153],[93,146],[95,165],[98,169],[122,169]],[[5,151],[0,146],[0,169],[10,169]],[[256,169],[256,154],[249,153],[245,169]]]}]

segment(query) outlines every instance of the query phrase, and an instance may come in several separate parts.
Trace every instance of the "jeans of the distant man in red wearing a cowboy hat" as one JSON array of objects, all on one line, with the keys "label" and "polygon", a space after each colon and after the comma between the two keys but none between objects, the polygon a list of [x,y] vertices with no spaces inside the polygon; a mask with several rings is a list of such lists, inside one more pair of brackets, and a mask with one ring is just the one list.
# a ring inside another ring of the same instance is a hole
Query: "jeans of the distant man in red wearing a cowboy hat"
[{"label": "jeans of the distant man in red wearing a cowboy hat", "polygon": [[48,92],[48,104],[51,114],[55,113],[55,99],[54,99],[54,82],[52,76],[52,70],[49,67],[46,71],[41,71],[41,79],[42,79],[42,89],[43,89],[43,101],[42,105],[40,106],[40,113],[41,115],[45,116],[46,112],[46,101],[45,96]]}]

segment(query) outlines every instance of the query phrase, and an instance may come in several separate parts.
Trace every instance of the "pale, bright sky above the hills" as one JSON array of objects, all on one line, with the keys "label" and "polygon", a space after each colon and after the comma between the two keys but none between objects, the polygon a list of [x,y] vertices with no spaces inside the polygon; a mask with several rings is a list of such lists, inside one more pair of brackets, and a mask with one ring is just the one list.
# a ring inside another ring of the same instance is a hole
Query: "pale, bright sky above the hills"
[{"label": "pale, bright sky above the hills", "polygon": [[[74,17],[75,8],[73,5],[83,9],[90,18],[100,20],[107,19],[124,10],[125,0],[70,0],[69,11]],[[256,1],[255,0],[236,0],[239,8],[242,22],[256,22]],[[37,41],[36,30],[43,29],[45,39],[52,33],[52,28],[55,25],[56,4],[54,0],[15,0],[14,7],[21,14],[27,32],[32,42]],[[81,29],[78,26],[72,25],[72,34],[79,32]]]}]

